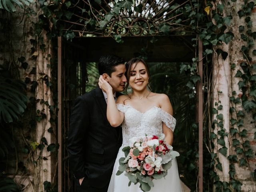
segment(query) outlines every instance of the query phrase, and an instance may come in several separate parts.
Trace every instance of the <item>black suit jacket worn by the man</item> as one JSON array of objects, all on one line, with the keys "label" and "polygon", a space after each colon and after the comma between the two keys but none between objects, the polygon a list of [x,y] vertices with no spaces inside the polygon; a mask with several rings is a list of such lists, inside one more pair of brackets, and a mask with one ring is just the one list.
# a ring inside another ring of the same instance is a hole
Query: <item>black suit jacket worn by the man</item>
[{"label": "black suit jacket worn by the man", "polygon": [[74,101],[68,132],[67,148],[75,178],[85,177],[87,187],[98,189],[107,188],[122,144],[122,128],[110,126],[106,108],[98,87],[79,96]]}]

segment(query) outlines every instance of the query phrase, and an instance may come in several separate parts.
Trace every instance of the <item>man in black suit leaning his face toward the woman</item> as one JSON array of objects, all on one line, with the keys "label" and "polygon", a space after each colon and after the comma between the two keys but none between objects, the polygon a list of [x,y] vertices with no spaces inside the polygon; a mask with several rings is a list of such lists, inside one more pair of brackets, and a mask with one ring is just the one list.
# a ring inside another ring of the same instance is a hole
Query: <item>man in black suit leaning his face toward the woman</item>
[{"label": "man in black suit leaning his face toward the woman", "polygon": [[[104,55],[98,64],[99,74],[112,86],[117,98],[124,90],[124,59]],[[68,132],[70,166],[76,178],[76,192],[106,192],[122,129],[110,126],[106,117],[107,95],[99,87],[74,101]]]}]

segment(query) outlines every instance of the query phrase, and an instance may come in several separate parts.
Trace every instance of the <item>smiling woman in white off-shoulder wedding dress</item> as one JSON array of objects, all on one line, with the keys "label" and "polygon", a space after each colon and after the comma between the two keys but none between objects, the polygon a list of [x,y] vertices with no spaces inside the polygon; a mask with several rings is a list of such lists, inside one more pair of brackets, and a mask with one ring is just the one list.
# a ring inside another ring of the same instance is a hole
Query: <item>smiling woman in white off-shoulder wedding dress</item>
[{"label": "smiling woman in white off-shoulder wedding dress", "polygon": [[[132,93],[121,95],[116,102],[112,87],[102,76],[99,79],[100,88],[108,96],[107,118],[111,126],[122,124],[123,143],[118,151],[114,170],[111,176],[108,192],[142,192],[139,183],[128,186],[129,179],[125,174],[116,176],[119,158],[124,157],[122,148],[129,145],[130,138],[143,134],[157,135],[164,133],[165,140],[172,145],[173,131],[176,120],[172,116],[172,105],[168,96],[148,90],[150,78],[148,65],[140,58],[133,58],[126,63],[126,89],[130,85]],[[167,176],[153,180],[151,192],[182,192],[176,159],[172,160],[172,167]]]}]

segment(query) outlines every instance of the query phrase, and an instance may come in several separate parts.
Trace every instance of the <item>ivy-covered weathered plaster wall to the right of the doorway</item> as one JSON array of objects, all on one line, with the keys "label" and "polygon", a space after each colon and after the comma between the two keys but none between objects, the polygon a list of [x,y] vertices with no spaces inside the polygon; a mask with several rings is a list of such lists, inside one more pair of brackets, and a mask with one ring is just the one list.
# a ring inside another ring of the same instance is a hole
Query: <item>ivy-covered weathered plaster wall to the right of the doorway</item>
[{"label": "ivy-covered weathered plaster wall to the right of the doorway", "polygon": [[[222,1],[224,2],[224,1]],[[236,92],[235,97],[241,97],[242,95],[242,90],[239,90],[238,87],[238,82],[242,80],[242,78],[235,77],[235,74],[238,70],[243,71],[242,68],[240,67],[240,64],[242,62],[247,62],[246,59],[243,58],[243,54],[241,52],[241,47],[242,45],[247,46],[247,42],[243,41],[241,39],[241,34],[239,32],[239,26],[245,26],[246,28],[246,23],[244,21],[244,17],[239,18],[238,16],[238,11],[241,9],[242,5],[244,4],[244,1],[239,0],[236,1],[236,4],[232,2],[231,0],[226,1],[226,3],[230,3],[233,6],[233,9],[226,9],[224,12],[224,15],[232,14],[233,19],[230,25],[230,31],[234,34],[234,39],[230,42],[230,44],[226,45],[225,43],[218,47],[222,48],[224,51],[228,52],[228,58],[226,60],[222,59],[217,59],[216,53],[214,54],[214,59],[213,59],[213,67],[214,67],[214,101],[218,102],[220,100],[221,104],[223,105],[223,110],[220,110],[220,113],[223,114],[224,116],[224,128],[226,129],[226,132],[229,132],[230,128],[234,127],[237,128],[239,131],[242,131],[243,129],[247,130],[247,136],[244,138],[241,138],[240,136],[231,136],[230,132],[229,135],[225,137],[225,143],[226,146],[228,147],[228,155],[236,155],[235,148],[232,147],[232,139],[236,138],[240,141],[240,143],[244,143],[246,140],[250,142],[251,148],[254,151],[253,152],[253,157],[248,158],[249,166],[239,166],[239,162],[235,163],[235,168],[236,168],[236,174],[235,177],[237,180],[239,180],[243,185],[242,185],[242,191],[244,192],[253,192],[256,191],[256,182],[252,178],[251,172],[254,172],[254,169],[256,168],[256,142],[254,140],[254,132],[255,132],[255,121],[252,118],[252,113],[247,113],[245,110],[243,110],[243,107],[241,103],[238,103],[234,105],[234,103],[230,102],[230,97],[232,96],[232,92]],[[230,6],[226,6],[230,7]],[[251,21],[252,21],[252,31],[256,31],[256,15],[255,15],[256,9],[254,8],[253,13],[250,15]],[[254,40],[254,43],[256,41]],[[216,47],[217,49],[217,47]],[[254,45],[251,48],[252,50],[256,49],[256,46]],[[252,57],[252,62],[250,64],[253,64],[256,62],[256,56],[253,54],[250,55]],[[231,64],[235,64],[236,67],[234,69],[231,69]],[[254,71],[254,74],[256,72]],[[221,94],[218,94],[218,91],[222,91]],[[227,95],[228,94],[228,95]],[[229,109],[230,107],[234,107],[236,109],[236,112],[239,110],[242,110],[245,114],[243,120],[244,120],[244,126],[234,126],[231,125],[230,119],[234,118],[238,120],[238,117],[236,116],[235,112],[230,112]],[[215,116],[216,117],[216,116]],[[214,118],[215,118],[214,117]],[[215,150],[217,151],[219,146],[217,145]],[[218,157],[220,158],[220,161],[222,163],[222,168],[223,172],[219,172],[220,178],[223,181],[229,181],[229,162],[228,160],[222,156],[222,154],[218,153]],[[238,159],[240,159],[242,155],[238,156]]]}]

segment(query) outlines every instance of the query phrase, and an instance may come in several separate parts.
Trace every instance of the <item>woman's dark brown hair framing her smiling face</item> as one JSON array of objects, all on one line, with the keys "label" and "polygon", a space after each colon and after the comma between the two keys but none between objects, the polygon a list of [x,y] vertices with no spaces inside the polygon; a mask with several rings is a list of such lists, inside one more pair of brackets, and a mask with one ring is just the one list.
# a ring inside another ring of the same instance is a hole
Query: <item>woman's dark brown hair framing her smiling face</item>
[{"label": "woman's dark brown hair framing her smiling face", "polygon": [[[125,67],[126,67],[125,76],[126,76],[126,79],[127,79],[127,83],[126,83],[126,86],[124,87],[124,89],[125,89],[125,91],[126,91],[126,93],[127,93],[127,95],[129,97],[130,97],[130,94],[128,94],[127,88],[129,86],[129,80],[130,80],[130,76],[131,76],[131,71],[134,70],[134,68],[137,66],[137,64],[139,62],[142,62],[144,64],[144,66],[146,67],[147,74],[148,74],[148,80],[150,78],[150,73],[149,73],[149,70],[148,70],[148,64],[143,59],[141,59],[141,58],[132,58],[131,60],[126,62],[126,65],[125,65]],[[134,67],[132,67],[133,64],[135,64]],[[149,84],[148,84],[148,88],[149,88],[149,90],[151,92],[151,88],[150,88]]]}]

